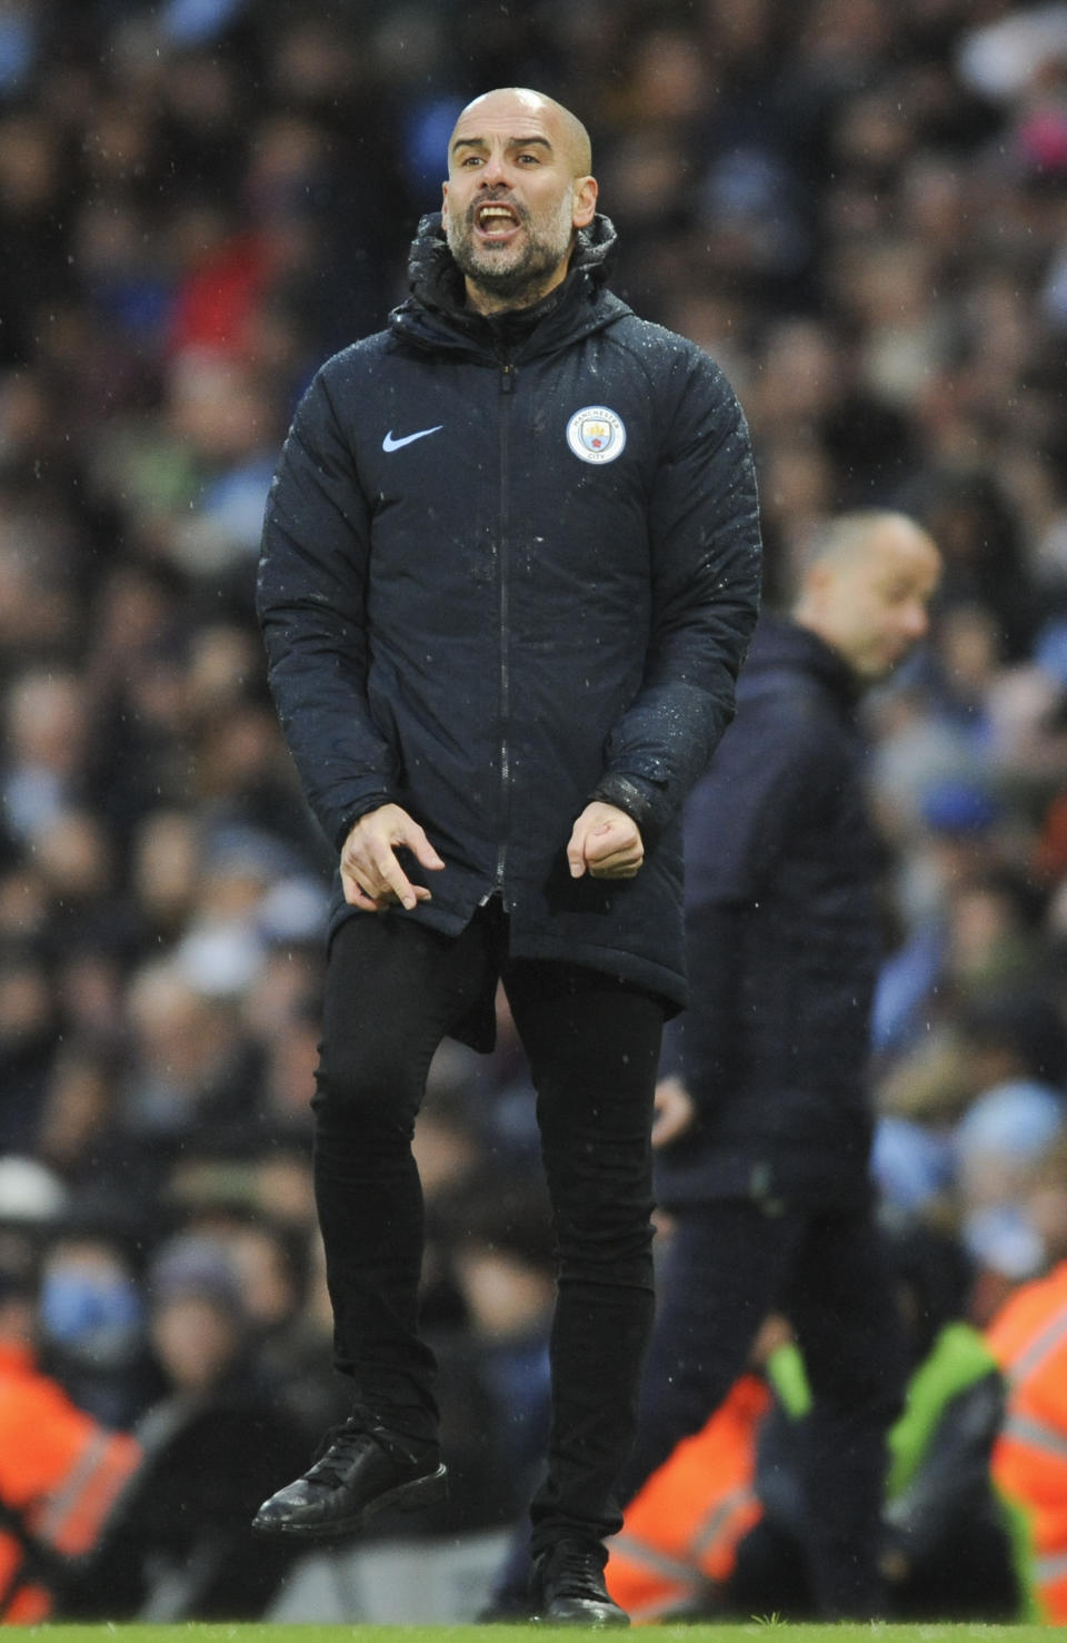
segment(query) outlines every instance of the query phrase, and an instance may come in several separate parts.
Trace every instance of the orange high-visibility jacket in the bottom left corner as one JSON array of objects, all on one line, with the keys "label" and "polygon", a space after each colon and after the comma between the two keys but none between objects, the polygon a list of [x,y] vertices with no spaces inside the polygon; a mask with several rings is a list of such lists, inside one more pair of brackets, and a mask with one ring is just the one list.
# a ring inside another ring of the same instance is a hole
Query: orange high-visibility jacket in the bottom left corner
[{"label": "orange high-visibility jacket in the bottom left corner", "polygon": [[[0,1344],[0,1502],[36,1546],[59,1559],[90,1553],[140,1459],[138,1441],[71,1403],[30,1347]],[[48,1585],[26,1559],[21,1536],[0,1531],[3,1625],[51,1612]]]}]

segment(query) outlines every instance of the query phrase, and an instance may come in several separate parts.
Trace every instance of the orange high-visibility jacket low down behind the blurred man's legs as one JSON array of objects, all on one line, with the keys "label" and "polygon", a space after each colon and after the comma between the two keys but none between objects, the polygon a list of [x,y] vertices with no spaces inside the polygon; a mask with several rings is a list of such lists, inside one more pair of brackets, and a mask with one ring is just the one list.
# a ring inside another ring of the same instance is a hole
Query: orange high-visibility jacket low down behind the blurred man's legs
[{"label": "orange high-visibility jacket low down behind the blurred man's legs", "polygon": [[611,1541],[607,1590],[632,1620],[660,1620],[721,1584],[737,1546],[762,1516],[755,1434],[772,1395],[742,1375],[708,1424],[678,1444],[625,1510]]}]

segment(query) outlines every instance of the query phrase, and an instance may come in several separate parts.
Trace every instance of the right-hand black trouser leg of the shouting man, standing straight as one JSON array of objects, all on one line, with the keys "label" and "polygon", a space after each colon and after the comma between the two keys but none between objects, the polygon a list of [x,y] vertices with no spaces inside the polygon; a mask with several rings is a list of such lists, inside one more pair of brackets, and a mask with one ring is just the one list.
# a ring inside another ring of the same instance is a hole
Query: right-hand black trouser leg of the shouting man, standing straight
[{"label": "right-hand black trouser leg of the shouting man, standing straight", "polygon": [[537,1089],[558,1254],[537,1554],[563,1535],[602,1539],[622,1521],[616,1489],[653,1309],[648,1135],[663,1009],[560,964],[511,964],[504,986]]}]

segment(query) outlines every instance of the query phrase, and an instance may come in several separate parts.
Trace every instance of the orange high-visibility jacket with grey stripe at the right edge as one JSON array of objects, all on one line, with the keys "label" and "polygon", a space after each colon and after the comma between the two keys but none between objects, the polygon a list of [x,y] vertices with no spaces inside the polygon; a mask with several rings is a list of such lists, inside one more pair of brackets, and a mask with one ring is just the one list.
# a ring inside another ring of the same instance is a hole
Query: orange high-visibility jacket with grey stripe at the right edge
[{"label": "orange high-visibility jacket with grey stripe at the right edge", "polygon": [[1042,1618],[1067,1625],[1067,1262],[1021,1285],[987,1341],[1008,1382],[993,1477],[1029,1521]]}]

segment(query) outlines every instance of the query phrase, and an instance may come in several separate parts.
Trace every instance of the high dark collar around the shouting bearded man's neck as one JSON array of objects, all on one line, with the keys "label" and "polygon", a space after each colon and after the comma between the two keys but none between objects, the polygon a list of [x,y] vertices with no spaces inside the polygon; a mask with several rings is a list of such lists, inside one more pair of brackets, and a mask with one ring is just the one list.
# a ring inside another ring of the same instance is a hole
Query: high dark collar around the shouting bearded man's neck
[{"label": "high dark collar around the shouting bearded man's neck", "polygon": [[606,289],[614,246],[614,225],[607,217],[594,217],[578,232],[561,286],[534,307],[486,317],[465,306],[463,276],[448,250],[440,212],[433,212],[419,223],[407,263],[410,296],[392,311],[389,327],[422,347],[466,347],[497,358],[552,352],[629,314]]}]

